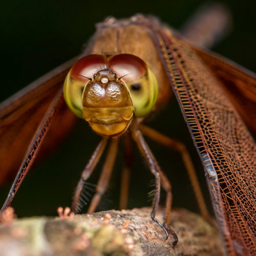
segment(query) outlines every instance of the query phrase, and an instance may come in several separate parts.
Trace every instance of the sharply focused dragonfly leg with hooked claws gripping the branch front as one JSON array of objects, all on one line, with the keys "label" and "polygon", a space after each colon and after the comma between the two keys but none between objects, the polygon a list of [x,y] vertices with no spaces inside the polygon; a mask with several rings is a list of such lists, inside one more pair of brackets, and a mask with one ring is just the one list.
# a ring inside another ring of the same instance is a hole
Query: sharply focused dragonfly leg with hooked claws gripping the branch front
[{"label": "sharply focused dragonfly leg with hooked claws gripping the branch front", "polygon": [[[160,223],[159,220],[157,220],[155,218],[157,208],[158,208],[158,205],[159,205],[159,198],[160,198],[160,185],[161,185],[160,179],[162,177],[162,179],[164,180],[164,185],[166,185],[166,183],[165,183],[166,176],[163,175],[163,172],[162,172],[157,160],[155,159],[153,153],[151,152],[150,148],[148,147],[147,143],[145,142],[141,132],[138,130],[137,123],[135,121],[131,125],[131,131],[132,131],[133,139],[136,141],[140,152],[142,153],[143,157],[147,161],[148,166],[150,166],[151,172],[155,176],[156,192],[155,192],[155,198],[154,198],[154,201],[153,201],[153,209],[152,209],[152,212],[151,212],[151,218],[153,219],[153,221],[157,222],[157,224],[164,230],[165,237],[163,237],[162,239],[167,239],[168,236],[169,236],[169,234],[168,234],[168,232],[165,228],[165,226],[167,226],[167,225],[165,225],[165,223],[163,225],[162,223]],[[170,204],[172,202],[172,200],[171,200],[172,199],[172,193],[171,193],[170,190],[169,190],[167,198],[169,200],[169,203],[168,203],[167,207],[170,207]],[[174,240],[172,241],[172,243],[175,246],[178,242],[178,238],[177,238],[174,231],[172,231],[172,234],[174,235]]]}]

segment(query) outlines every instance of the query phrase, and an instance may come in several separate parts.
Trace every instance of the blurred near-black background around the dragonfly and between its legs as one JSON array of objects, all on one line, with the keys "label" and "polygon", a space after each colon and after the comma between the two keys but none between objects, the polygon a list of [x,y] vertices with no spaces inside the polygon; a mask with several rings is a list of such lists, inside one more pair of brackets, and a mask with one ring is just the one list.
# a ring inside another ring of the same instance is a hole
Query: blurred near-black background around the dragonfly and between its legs
[{"label": "blurred near-black background around the dragonfly and between its legs", "polygon": [[[27,84],[68,59],[78,55],[82,45],[95,31],[95,24],[107,16],[129,17],[135,13],[152,14],[175,29],[205,1],[1,1],[0,49],[1,94],[3,101]],[[233,17],[232,31],[214,47],[214,51],[255,71],[255,3],[254,1],[219,1]],[[151,126],[185,143],[194,160],[200,182],[210,206],[204,171],[175,99],[154,118]],[[12,206],[18,217],[56,215],[58,206],[70,206],[83,167],[99,141],[88,124],[79,120],[73,133],[58,151],[33,168],[20,187]],[[148,141],[173,186],[174,207],[198,211],[193,190],[178,154]],[[1,146],[1,145],[0,145]],[[153,176],[134,145],[129,208],[151,205],[147,193]],[[109,190],[99,209],[118,208],[122,144]],[[104,156],[89,182],[96,184]],[[1,163],[0,163],[1,164]],[[0,204],[11,182],[0,188]],[[84,210],[86,207],[84,208]]]}]

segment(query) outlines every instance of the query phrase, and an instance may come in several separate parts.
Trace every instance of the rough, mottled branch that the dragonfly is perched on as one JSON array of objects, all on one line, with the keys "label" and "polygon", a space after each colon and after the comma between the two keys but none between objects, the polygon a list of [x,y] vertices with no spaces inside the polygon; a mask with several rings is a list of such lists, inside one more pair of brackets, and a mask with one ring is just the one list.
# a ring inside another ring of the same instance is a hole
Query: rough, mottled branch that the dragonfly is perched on
[{"label": "rough, mottled branch that the dragonfly is perched on", "polygon": [[[216,227],[185,209],[172,211],[173,248],[150,208],[109,210],[66,219],[33,217],[0,226],[0,255],[223,255]],[[163,210],[157,218],[162,220]]]}]

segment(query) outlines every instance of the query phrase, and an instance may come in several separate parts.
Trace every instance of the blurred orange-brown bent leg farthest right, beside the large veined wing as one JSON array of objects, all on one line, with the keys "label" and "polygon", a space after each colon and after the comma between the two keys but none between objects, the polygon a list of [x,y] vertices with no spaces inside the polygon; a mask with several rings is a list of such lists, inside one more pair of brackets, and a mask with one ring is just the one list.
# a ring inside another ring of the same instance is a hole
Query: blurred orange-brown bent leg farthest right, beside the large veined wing
[{"label": "blurred orange-brown bent leg farthest right, beside the large veined wing", "polygon": [[210,221],[211,218],[210,218],[209,212],[207,210],[207,207],[206,207],[206,204],[205,204],[205,201],[203,198],[201,187],[200,187],[198,179],[197,179],[196,171],[193,166],[193,162],[188,154],[186,146],[183,143],[181,143],[180,141],[169,138],[169,137],[167,137],[167,136],[165,136],[165,135],[157,132],[156,130],[154,130],[150,127],[147,127],[145,125],[141,124],[140,130],[145,136],[147,136],[147,137],[151,138],[152,140],[154,140],[164,146],[167,146],[167,147],[171,148],[172,150],[177,151],[181,154],[183,162],[184,162],[186,170],[187,170],[188,177],[190,179],[190,182],[192,184],[192,187],[193,187],[193,190],[194,190],[194,193],[196,196],[196,200],[197,200],[199,209],[201,211],[201,215],[203,216],[203,218],[205,220]]}]

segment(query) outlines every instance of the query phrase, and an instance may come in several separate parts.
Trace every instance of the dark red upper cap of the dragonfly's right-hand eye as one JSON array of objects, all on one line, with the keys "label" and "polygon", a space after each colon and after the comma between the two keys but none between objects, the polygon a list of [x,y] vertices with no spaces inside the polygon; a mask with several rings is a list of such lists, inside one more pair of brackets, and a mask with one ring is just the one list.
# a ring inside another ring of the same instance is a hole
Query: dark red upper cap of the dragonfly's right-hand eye
[{"label": "dark red upper cap of the dragonfly's right-hand eye", "polygon": [[124,82],[143,76],[147,71],[146,63],[132,54],[113,55],[108,59],[108,68]]}]

